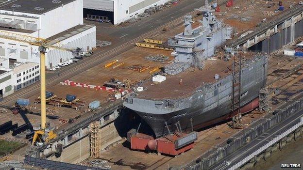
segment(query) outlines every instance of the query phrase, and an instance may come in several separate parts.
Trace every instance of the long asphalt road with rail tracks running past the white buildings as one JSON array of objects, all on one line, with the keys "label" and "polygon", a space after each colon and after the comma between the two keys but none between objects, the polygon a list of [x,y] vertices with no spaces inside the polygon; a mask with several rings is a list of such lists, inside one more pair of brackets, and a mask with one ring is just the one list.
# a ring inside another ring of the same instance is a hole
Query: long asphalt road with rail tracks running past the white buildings
[{"label": "long asphalt road with rail tracks running past the white buildings", "polygon": [[[84,72],[88,68],[91,68],[93,66],[96,66],[100,64],[101,62],[107,61],[111,59],[112,57],[117,56],[118,54],[124,52],[123,51],[115,51],[111,53],[110,55],[103,55],[102,54],[110,51],[111,49],[128,45],[130,41],[134,40],[135,38],[139,37],[140,35],[143,35],[147,32],[152,32],[156,28],[159,28],[163,26],[164,24],[168,23],[169,21],[172,21],[178,17],[181,17],[183,15],[188,14],[189,12],[194,11],[195,8],[199,8],[204,4],[203,0],[181,0],[178,5],[173,5],[161,12],[158,12],[154,15],[151,15],[147,18],[144,18],[143,20],[139,20],[136,23],[133,23],[126,27],[112,27],[107,29],[97,29],[97,35],[98,34],[106,34],[107,36],[115,36],[119,37],[121,41],[118,43],[113,44],[109,48],[106,48],[106,50],[101,49],[99,51],[96,51],[94,55],[91,57],[85,58],[83,61],[77,64],[72,64],[70,66],[66,66],[64,68],[61,68],[59,71],[54,73],[48,73],[46,75],[47,82],[46,86],[47,88],[53,85],[58,84],[60,81],[63,81],[65,79],[68,79],[70,77],[73,77],[81,72]],[[177,24],[182,24],[182,21]],[[177,26],[176,25],[176,26]],[[97,26],[98,28],[98,26]],[[160,33],[160,32],[159,32]],[[95,61],[95,59],[101,58]],[[94,60],[94,63],[89,63],[90,60]],[[82,64],[82,66],[80,66]],[[85,66],[83,66],[85,64]],[[60,76],[58,76],[58,73],[60,73]],[[51,81],[48,81],[48,79],[52,79]],[[5,98],[3,98],[3,101],[0,102],[1,107],[10,107],[15,104],[17,98],[28,98],[32,95],[39,93],[39,82],[36,82],[35,84],[28,86],[24,89],[21,89]]]}]

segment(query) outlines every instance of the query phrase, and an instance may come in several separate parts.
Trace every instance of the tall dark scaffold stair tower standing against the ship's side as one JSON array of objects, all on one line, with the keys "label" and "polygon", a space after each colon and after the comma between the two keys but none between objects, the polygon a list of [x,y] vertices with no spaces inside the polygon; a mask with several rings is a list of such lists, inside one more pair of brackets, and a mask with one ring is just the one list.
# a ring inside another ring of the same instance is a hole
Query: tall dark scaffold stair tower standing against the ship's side
[{"label": "tall dark scaffold stair tower standing against the ship's side", "polygon": [[235,128],[241,119],[241,58],[242,52],[234,55],[232,72],[232,106],[233,128]]}]

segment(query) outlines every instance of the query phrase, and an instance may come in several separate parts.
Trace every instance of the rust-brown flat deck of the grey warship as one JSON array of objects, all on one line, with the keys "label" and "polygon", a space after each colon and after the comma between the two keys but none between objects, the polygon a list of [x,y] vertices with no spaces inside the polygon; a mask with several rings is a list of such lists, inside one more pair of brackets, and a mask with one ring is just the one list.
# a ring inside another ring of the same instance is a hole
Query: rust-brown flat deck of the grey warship
[{"label": "rust-brown flat deck of the grey warship", "polygon": [[[254,52],[244,53],[242,61],[252,59],[255,54]],[[194,92],[203,84],[217,81],[215,79],[216,74],[218,74],[220,78],[226,77],[231,73],[233,59],[231,58],[228,61],[224,61],[222,59],[223,56],[223,53],[219,53],[211,58],[214,60],[205,60],[202,70],[189,68],[183,73],[173,76],[168,75],[166,76],[166,80],[161,83],[147,80],[142,84],[146,90],[138,92],[137,97],[159,100],[163,98],[184,97]]]}]

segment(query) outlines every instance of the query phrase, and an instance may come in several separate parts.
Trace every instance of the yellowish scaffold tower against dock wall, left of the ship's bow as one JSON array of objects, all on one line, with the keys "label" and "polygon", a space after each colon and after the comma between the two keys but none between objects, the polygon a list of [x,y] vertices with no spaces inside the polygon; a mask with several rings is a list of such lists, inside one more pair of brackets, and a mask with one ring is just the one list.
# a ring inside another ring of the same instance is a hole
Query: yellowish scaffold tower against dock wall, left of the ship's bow
[{"label": "yellowish scaffold tower against dock wall, left of the ship's bow", "polygon": [[90,124],[90,156],[98,158],[100,156],[100,123],[95,121]]}]

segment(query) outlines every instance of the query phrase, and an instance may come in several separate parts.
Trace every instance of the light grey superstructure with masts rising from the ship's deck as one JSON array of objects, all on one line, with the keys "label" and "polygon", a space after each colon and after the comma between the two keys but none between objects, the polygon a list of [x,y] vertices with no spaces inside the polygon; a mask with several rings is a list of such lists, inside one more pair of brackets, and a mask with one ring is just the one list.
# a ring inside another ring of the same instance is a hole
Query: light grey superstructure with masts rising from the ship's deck
[{"label": "light grey superstructure with masts rising from the ship's deck", "polygon": [[191,66],[203,67],[203,61],[215,53],[215,48],[231,38],[232,28],[223,27],[213,15],[210,5],[197,9],[203,15],[201,25],[192,29],[192,16],[184,17],[184,32],[177,34],[174,62],[165,67],[165,72],[176,75]]}]

